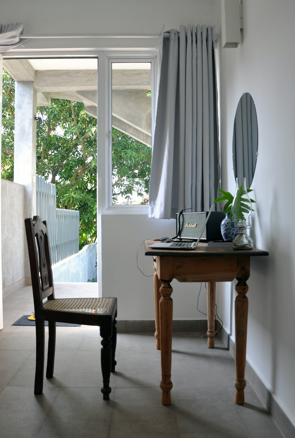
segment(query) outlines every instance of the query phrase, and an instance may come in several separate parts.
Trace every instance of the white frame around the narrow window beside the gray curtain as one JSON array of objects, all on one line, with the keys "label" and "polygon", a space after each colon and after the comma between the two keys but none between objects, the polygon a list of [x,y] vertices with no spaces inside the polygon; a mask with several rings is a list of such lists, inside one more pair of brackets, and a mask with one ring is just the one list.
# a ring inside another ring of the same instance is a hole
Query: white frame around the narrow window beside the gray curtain
[{"label": "white frame around the narrow window beside the gray curtain", "polygon": [[[101,60],[101,63],[100,63]],[[119,52],[119,53],[99,53],[98,54],[98,77],[104,77],[104,89],[102,80],[98,81],[98,114],[101,117],[97,117],[97,124],[102,124],[98,126],[98,132],[100,133],[100,138],[98,139],[97,147],[97,158],[100,157],[102,160],[99,163],[98,171],[98,184],[101,199],[97,200],[97,205],[101,206],[101,213],[104,214],[147,214],[148,205],[112,205],[112,156],[111,156],[111,132],[112,132],[112,104],[111,104],[111,64],[118,62],[150,62],[151,63],[151,117],[152,117],[152,145],[153,145],[153,126],[155,120],[155,96],[156,96],[156,74],[157,74],[157,53],[156,51],[151,51],[149,53],[131,53],[131,52]],[[101,87],[100,87],[101,85]],[[105,93],[108,93],[106,96]],[[105,96],[105,121],[102,120],[103,108],[101,99]],[[104,134],[103,134],[104,133]],[[104,151],[103,151],[104,148]],[[104,163],[104,169],[102,169],[102,163]],[[98,166],[98,165],[97,165]],[[104,174],[104,177],[103,177]],[[106,186],[104,187],[104,181]],[[98,195],[98,197],[100,197]]]}]

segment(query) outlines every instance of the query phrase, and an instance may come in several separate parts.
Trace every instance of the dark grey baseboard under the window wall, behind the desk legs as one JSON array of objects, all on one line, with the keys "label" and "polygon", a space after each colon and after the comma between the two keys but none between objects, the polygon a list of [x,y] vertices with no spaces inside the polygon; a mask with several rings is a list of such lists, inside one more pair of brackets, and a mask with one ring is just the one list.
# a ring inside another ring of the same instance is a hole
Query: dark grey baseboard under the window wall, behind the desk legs
[{"label": "dark grey baseboard under the window wall, behind the desk legs", "polygon": [[[217,330],[218,321],[215,321]],[[207,319],[185,319],[173,320],[172,330],[174,332],[207,332]],[[152,320],[118,320],[118,333],[154,333],[155,321]]]}]

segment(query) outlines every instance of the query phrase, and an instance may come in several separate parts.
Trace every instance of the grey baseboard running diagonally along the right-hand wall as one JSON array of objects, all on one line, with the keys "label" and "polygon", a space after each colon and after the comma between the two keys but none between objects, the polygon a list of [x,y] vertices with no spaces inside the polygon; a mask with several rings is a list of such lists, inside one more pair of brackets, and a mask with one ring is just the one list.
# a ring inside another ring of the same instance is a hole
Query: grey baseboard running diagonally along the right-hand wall
[{"label": "grey baseboard running diagonally along the right-hand wall", "polygon": [[[219,335],[229,349],[229,352],[232,354],[233,357],[235,357],[235,343],[233,339],[230,338],[229,334],[223,328],[220,330]],[[248,361],[246,361],[245,377],[246,381],[250,383],[257,396],[260,398],[261,402],[271,414],[271,417],[273,418],[274,422],[276,423],[284,437],[294,438],[295,426],[292,424],[285,412],[278,405],[278,402],[276,402],[274,396],[264,385],[263,381],[253,370]]]}]

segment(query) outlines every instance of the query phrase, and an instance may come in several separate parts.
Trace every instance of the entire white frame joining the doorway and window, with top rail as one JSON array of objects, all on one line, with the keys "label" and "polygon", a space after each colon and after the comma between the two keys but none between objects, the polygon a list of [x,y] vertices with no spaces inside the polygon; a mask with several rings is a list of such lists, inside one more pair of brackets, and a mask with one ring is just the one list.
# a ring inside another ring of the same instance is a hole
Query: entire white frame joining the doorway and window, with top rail
[{"label": "entire white frame joining the doorway and window, with top rail", "polygon": [[[160,36],[160,35],[159,35]],[[38,57],[69,57],[69,58],[83,58],[91,57],[98,58],[97,76],[97,278],[98,278],[98,296],[102,296],[102,262],[101,262],[101,215],[102,214],[144,214],[148,213],[147,205],[126,205],[126,206],[111,206],[109,205],[109,60],[110,59],[132,59],[132,60],[153,60],[153,68],[151,68],[151,104],[152,104],[152,145],[153,145],[153,126],[155,120],[156,107],[156,84],[158,71],[158,49],[150,49],[153,47],[153,42],[148,38],[148,42],[142,42],[143,39],[132,39],[130,45],[133,48],[120,49],[97,48],[97,39],[87,39],[87,48],[85,48],[85,39],[70,39],[64,43],[64,39],[56,39],[56,46],[58,49],[53,49],[53,45],[41,40],[33,40],[28,45],[32,49],[26,50],[11,50],[5,53],[5,59],[20,59],[20,58],[38,58]],[[155,39],[158,42],[158,38]],[[125,44],[120,42],[121,38],[116,42],[117,44]],[[130,41],[130,40],[129,40]],[[77,42],[80,43],[77,44]],[[138,44],[141,49],[134,49]],[[149,47],[147,49],[146,47]],[[61,47],[61,48],[60,48]],[[109,47],[107,44],[101,44],[100,47]],[[117,46],[118,47],[118,46]],[[1,118],[1,117],[0,117]],[[108,170],[108,173],[107,173]],[[1,323],[1,308],[0,308],[0,323]]]}]

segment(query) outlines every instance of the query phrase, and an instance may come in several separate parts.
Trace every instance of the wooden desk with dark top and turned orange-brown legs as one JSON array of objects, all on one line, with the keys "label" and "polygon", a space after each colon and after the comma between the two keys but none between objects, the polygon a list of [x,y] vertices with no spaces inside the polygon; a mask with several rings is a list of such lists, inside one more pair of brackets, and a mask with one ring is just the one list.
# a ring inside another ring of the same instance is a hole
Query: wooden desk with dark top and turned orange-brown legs
[{"label": "wooden desk with dark top and turned orange-brown legs", "polygon": [[246,338],[248,318],[248,286],[246,280],[250,277],[250,257],[268,255],[267,251],[252,250],[237,251],[233,248],[208,247],[199,244],[192,251],[155,250],[149,248],[152,240],[146,240],[146,255],[154,260],[154,293],[156,348],[161,350],[162,404],[170,405],[172,389],[171,353],[172,353],[172,310],[171,281],[175,278],[180,282],[207,283],[207,314],[208,314],[208,348],[214,348],[215,321],[215,290],[216,282],[237,279],[235,300],[236,327],[236,387],[235,403],[244,403]]}]

